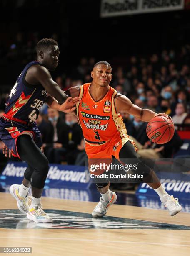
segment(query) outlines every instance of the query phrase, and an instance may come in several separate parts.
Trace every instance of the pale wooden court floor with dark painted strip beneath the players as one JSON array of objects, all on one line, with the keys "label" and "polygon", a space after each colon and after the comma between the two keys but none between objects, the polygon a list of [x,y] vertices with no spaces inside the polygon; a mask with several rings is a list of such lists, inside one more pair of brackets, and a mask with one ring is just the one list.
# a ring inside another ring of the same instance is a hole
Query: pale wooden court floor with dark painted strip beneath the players
[{"label": "pale wooden court floor with dark painted strip beneath the players", "polygon": [[54,222],[36,224],[10,194],[0,193],[0,202],[1,247],[32,247],[32,255],[190,254],[188,213],[112,205],[104,218],[92,218],[95,202],[43,197]]}]

